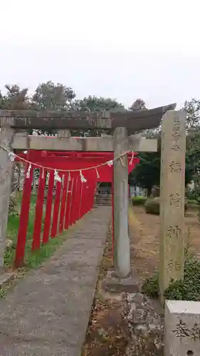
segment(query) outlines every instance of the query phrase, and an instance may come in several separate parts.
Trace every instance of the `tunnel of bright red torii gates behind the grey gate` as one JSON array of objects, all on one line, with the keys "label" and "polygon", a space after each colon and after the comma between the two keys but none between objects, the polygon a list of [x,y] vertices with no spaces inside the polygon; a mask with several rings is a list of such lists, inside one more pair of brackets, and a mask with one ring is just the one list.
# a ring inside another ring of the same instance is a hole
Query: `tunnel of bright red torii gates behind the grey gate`
[{"label": "tunnel of bright red torii gates behind the grey gate", "polygon": [[[16,246],[15,266],[23,266],[28,228],[28,214],[31,201],[33,169],[39,169],[38,192],[36,199],[35,222],[33,229],[32,250],[40,248],[48,242],[49,236],[54,238],[64,229],[78,221],[93,209],[97,182],[113,183],[113,152],[63,152],[33,151],[16,152],[16,161],[25,165],[23,197],[19,233]],[[128,153],[128,172],[132,172],[139,163],[136,153]],[[24,159],[24,160],[23,160]],[[27,161],[27,162],[26,162]],[[110,162],[111,164],[107,164]],[[31,162],[31,164],[30,164]],[[99,167],[98,167],[99,166]],[[61,182],[55,177],[55,169]],[[43,204],[46,191],[46,175],[48,173],[48,192],[46,196],[43,235]],[[56,192],[53,199],[54,184]],[[113,215],[113,194],[112,194]],[[113,219],[112,219],[113,223]]]}]

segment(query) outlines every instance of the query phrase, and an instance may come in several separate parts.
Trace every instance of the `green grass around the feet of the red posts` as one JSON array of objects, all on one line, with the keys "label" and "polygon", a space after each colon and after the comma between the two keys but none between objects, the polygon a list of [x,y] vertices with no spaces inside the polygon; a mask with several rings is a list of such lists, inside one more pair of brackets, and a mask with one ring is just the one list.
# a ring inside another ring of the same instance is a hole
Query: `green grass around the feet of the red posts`
[{"label": "green grass around the feet of the red posts", "polygon": [[[14,264],[17,234],[19,229],[21,197],[22,194],[18,193],[16,196],[16,200],[17,200],[16,211],[14,211],[14,214],[9,214],[6,239],[13,241],[13,245],[9,248],[6,248],[6,252],[4,256],[4,264],[6,267],[12,267]],[[46,258],[50,257],[53,254],[53,252],[56,251],[57,246],[60,246],[60,244],[62,244],[63,239],[65,237],[64,234],[61,234],[55,239],[50,239],[48,244],[41,246],[39,250],[31,251],[34,220],[35,220],[36,199],[37,199],[36,194],[32,194],[29,216],[28,216],[28,230],[26,235],[26,251],[25,251],[25,258],[24,258],[25,264],[29,268],[34,268],[40,265]],[[44,220],[44,216],[45,216],[45,204],[43,209],[43,220]],[[42,221],[42,231],[43,231],[43,221]]]}]

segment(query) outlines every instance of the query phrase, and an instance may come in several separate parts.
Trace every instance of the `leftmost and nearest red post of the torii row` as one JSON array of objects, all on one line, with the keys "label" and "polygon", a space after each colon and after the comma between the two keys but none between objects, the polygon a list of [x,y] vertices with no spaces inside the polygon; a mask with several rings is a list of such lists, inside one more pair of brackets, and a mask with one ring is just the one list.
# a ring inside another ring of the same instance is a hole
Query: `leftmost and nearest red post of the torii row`
[{"label": "leftmost and nearest red post of the torii row", "polygon": [[[26,165],[26,172],[28,169],[28,165]],[[26,172],[23,183],[23,197],[21,201],[21,213],[19,219],[19,231],[17,236],[17,244],[16,244],[16,258],[15,258],[15,267],[19,268],[24,264],[24,253],[26,248],[26,234],[28,229],[28,215],[29,215],[29,207],[31,201],[31,183],[33,180],[33,166],[31,167],[30,177],[26,178]]]}]

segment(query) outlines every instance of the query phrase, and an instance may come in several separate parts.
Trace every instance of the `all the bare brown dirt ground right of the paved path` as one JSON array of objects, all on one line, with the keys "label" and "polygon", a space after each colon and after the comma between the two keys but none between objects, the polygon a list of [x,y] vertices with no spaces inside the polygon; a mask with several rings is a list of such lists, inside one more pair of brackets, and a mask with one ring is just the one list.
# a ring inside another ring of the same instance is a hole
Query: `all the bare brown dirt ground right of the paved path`
[{"label": "all the bare brown dirt ground right of the paved path", "polygon": [[[132,268],[145,279],[152,276],[159,263],[159,216],[146,214],[143,206],[130,206],[129,224]],[[190,252],[200,255],[200,223],[195,210],[186,214],[185,234],[186,240],[189,237]],[[125,302],[122,296],[106,295],[101,288],[101,281],[110,268],[112,239],[109,232],[82,356],[125,355]]]}]

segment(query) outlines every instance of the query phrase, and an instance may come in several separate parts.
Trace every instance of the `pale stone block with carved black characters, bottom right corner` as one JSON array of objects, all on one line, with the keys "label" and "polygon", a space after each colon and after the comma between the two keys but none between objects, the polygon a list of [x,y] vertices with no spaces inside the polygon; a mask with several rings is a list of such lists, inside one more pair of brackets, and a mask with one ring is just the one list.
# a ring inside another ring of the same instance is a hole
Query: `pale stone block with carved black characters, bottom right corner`
[{"label": "pale stone block with carved black characters, bottom right corner", "polygon": [[200,356],[200,302],[166,300],[164,356]]}]

